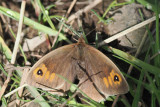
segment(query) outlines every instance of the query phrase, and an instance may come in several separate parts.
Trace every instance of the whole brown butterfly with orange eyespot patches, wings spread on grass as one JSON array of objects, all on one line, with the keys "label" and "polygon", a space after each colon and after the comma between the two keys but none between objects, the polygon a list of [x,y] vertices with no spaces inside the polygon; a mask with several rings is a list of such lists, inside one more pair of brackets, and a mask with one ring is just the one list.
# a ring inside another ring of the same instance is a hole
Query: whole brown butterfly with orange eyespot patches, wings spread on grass
[{"label": "whole brown butterfly with orange eyespot patches, wings spread on grass", "polygon": [[30,69],[27,84],[54,89],[52,93],[63,95],[71,85],[57,74],[71,82],[78,79],[79,89],[98,102],[129,90],[116,65],[99,50],[85,44],[82,38],[42,57]]}]

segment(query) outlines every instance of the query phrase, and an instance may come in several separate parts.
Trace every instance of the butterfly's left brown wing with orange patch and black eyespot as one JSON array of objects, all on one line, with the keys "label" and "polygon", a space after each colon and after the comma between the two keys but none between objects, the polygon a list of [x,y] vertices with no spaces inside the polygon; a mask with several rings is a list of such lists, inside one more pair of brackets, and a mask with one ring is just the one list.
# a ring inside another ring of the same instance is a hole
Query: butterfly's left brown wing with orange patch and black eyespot
[{"label": "butterfly's left brown wing with orange patch and black eyespot", "polygon": [[29,71],[27,83],[37,88],[53,88],[67,91],[70,88],[64,79],[56,74],[62,75],[70,81],[75,78],[74,66],[72,66],[72,56],[75,46],[67,45],[45,55]]}]

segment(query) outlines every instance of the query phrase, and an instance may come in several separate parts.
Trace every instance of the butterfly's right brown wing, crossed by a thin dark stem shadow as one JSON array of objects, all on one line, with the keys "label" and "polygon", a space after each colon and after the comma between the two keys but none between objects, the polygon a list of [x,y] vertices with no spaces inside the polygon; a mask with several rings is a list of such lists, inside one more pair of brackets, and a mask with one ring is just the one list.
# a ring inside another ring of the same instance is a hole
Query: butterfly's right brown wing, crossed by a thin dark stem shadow
[{"label": "butterfly's right brown wing, crossed by a thin dark stem shadow", "polygon": [[[129,88],[126,80],[108,57],[89,45],[86,45],[83,51],[85,54],[84,68],[87,74],[81,79],[85,80],[80,87],[82,91],[96,101],[102,101],[103,97],[107,98],[111,95],[128,92]],[[101,94],[92,94],[97,93],[97,90]]]}]

